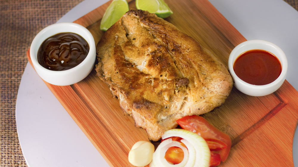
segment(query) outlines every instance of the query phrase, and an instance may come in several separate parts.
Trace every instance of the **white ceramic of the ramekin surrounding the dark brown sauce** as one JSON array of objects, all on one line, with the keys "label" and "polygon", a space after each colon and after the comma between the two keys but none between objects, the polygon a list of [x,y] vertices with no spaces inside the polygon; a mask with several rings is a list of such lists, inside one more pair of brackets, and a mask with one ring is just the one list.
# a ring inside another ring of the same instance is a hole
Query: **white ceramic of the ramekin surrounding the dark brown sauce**
[{"label": "white ceramic of the ramekin surrounding the dark brown sauce", "polygon": [[[46,40],[48,37],[61,32],[72,32],[82,36],[89,44],[89,53],[83,60],[83,62],[69,70],[48,70],[38,63],[38,49],[41,46],[42,42],[44,42],[44,40]],[[58,86],[71,85],[86,78],[86,76],[89,75],[94,67],[96,59],[96,47],[94,38],[88,29],[77,23],[65,22],[52,24],[41,30],[33,39],[30,46],[30,59],[32,61],[33,67],[35,68],[35,71],[44,81]]]}]

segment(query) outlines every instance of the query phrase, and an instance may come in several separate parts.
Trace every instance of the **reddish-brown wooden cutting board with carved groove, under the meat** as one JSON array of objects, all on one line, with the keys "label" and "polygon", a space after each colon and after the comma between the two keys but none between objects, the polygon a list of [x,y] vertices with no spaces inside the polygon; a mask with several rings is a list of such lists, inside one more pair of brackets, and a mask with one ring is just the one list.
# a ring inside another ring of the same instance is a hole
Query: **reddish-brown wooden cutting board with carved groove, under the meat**
[{"label": "reddish-brown wooden cutting board with carved groove, under the meat", "polygon": [[[232,49],[246,41],[207,0],[165,1],[174,12],[165,20],[212,51],[226,66]],[[128,2],[135,9],[135,1]],[[100,19],[110,3],[75,21],[89,29],[96,43],[103,35]],[[30,61],[29,52],[27,55]],[[135,142],[148,141],[147,134],[134,127],[134,120],[123,114],[119,101],[95,74],[93,70],[70,86],[46,85],[110,166],[131,166],[128,152]],[[297,97],[288,81],[263,97],[248,96],[233,88],[221,107],[202,115],[232,139],[230,155],[221,166],[294,166]]]}]

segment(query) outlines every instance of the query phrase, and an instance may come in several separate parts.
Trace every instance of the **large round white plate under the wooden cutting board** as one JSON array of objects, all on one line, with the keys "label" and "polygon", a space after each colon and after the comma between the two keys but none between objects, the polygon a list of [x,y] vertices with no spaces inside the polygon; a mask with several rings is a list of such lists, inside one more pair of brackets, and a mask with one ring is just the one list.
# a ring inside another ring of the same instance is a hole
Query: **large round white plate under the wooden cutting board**
[{"label": "large round white plate under the wooden cutting board", "polygon": [[[85,0],[59,22],[75,21],[106,1]],[[298,90],[298,12],[283,0],[209,1],[247,40],[267,40],[282,48],[289,62],[286,79]],[[30,167],[108,166],[30,64],[18,91],[16,121],[22,152]],[[298,166],[296,136],[293,154]]]}]

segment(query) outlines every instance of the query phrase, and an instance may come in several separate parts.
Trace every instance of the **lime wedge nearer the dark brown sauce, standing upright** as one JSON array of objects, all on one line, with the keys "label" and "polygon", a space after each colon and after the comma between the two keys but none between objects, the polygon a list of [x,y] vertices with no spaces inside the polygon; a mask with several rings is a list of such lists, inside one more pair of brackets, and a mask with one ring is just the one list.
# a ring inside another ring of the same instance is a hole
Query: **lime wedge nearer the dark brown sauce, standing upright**
[{"label": "lime wedge nearer the dark brown sauce, standing upright", "polygon": [[107,31],[108,28],[115,24],[128,10],[129,7],[126,0],[113,0],[103,14],[100,30]]}]

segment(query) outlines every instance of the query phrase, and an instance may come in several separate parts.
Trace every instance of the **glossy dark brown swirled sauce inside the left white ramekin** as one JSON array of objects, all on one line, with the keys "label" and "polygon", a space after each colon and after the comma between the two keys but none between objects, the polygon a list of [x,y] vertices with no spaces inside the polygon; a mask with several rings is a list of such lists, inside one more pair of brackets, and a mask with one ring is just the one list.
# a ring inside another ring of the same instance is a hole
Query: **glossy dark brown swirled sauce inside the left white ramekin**
[{"label": "glossy dark brown swirled sauce inside the left white ramekin", "polygon": [[71,69],[86,58],[87,41],[78,34],[63,32],[47,38],[39,47],[38,63],[46,69],[62,71]]}]

